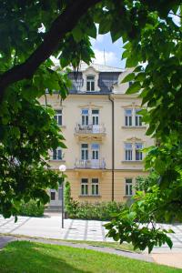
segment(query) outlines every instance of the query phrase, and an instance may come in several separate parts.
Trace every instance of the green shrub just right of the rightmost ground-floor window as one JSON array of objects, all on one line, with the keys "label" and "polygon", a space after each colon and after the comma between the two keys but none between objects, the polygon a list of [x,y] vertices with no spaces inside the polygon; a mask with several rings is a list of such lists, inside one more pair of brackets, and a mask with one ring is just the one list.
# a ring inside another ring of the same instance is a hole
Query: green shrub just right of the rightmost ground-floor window
[{"label": "green shrub just right of the rightmost ground-floor window", "polygon": [[136,191],[145,191],[147,192],[150,187],[157,184],[159,176],[154,171],[150,171],[149,175],[146,177],[136,177]]}]

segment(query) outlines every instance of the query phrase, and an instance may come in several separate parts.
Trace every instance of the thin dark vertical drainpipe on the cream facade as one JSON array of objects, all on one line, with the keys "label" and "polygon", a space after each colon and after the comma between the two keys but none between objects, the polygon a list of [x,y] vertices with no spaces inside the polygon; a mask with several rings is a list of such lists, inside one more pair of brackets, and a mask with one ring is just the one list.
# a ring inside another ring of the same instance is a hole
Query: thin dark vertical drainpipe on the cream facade
[{"label": "thin dark vertical drainpipe on the cream facade", "polygon": [[111,200],[114,201],[115,200],[115,112],[114,112],[114,99],[109,95],[108,99],[111,102],[112,105],[112,196],[111,196]]}]

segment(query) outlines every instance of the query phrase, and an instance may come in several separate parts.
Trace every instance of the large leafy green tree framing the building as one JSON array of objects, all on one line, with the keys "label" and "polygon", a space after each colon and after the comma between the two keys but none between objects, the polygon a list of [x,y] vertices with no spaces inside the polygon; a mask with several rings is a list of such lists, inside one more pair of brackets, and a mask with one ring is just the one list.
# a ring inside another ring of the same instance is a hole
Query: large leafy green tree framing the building
[{"label": "large leafy green tree framing the building", "polygon": [[[146,167],[154,168],[160,177],[159,186],[154,186],[150,193],[137,194],[129,211],[121,212],[115,224],[107,227],[113,230],[121,223],[122,228],[116,236],[110,231],[110,236],[120,241],[123,230],[131,227],[133,232],[127,232],[125,239],[132,241],[136,248],[151,250],[165,241],[171,247],[165,230],[157,230],[155,226],[141,229],[137,221],[153,225],[154,210],[156,214],[157,211],[169,211],[167,217],[174,212],[174,207],[176,214],[181,211],[182,45],[181,27],[172,18],[174,15],[180,18],[180,2],[2,2],[0,207],[5,216],[17,213],[21,198],[33,197],[45,202],[45,188],[56,187],[57,175],[49,169],[45,159],[47,149],[64,147],[63,136],[58,134],[53,112],[48,106],[38,105],[36,98],[45,94],[45,88],[50,94],[56,91],[62,99],[66,97],[69,82],[62,69],[70,64],[76,69],[81,60],[91,61],[94,53],[89,36],[96,37],[97,23],[100,34],[110,31],[113,41],[123,38],[126,66],[136,66],[124,79],[134,81],[127,93],[140,92],[143,104],[147,105],[141,113],[149,124],[147,135],[157,137],[160,143],[160,146],[148,149],[146,159]],[[54,70],[48,57],[57,56],[59,52],[61,67]],[[143,63],[146,66],[141,66]],[[37,128],[41,129],[38,133]],[[147,216],[143,214],[144,209],[147,209]],[[129,217],[129,222],[125,217]]]}]

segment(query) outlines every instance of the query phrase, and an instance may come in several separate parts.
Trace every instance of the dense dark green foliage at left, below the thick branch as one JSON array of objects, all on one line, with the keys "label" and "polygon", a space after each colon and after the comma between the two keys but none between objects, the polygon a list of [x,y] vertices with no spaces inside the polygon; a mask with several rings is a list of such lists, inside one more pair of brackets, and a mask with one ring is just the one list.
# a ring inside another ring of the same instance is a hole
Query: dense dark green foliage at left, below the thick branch
[{"label": "dense dark green foliage at left, below the thick branch", "polygon": [[48,150],[65,147],[54,111],[17,92],[0,111],[0,207],[16,215],[21,202],[49,201],[46,188],[56,188],[58,174],[45,163]]}]

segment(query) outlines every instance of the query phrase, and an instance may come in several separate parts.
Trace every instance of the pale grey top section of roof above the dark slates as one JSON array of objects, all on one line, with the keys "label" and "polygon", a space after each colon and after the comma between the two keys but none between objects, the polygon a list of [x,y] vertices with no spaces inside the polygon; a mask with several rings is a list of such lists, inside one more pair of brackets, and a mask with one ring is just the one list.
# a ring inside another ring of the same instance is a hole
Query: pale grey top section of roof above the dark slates
[{"label": "pale grey top section of roof above the dark slates", "polygon": [[[82,62],[80,66],[78,67],[78,71],[86,71],[87,68],[93,67],[97,72],[123,72],[124,69],[119,67],[113,67],[113,66],[105,66],[105,65],[98,65],[98,64],[90,64],[89,66]],[[73,69],[73,67],[70,67]]]}]

